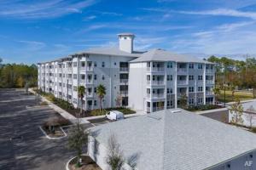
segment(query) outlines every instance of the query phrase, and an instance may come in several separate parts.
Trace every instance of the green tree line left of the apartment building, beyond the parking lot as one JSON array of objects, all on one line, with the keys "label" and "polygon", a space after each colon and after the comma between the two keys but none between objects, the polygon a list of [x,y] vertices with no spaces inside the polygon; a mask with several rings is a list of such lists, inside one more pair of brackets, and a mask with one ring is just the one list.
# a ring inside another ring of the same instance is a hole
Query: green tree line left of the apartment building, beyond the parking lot
[{"label": "green tree line left of the apartment building, beyond the parking lot", "polygon": [[2,64],[0,58],[0,88],[36,87],[38,84],[37,65]]}]

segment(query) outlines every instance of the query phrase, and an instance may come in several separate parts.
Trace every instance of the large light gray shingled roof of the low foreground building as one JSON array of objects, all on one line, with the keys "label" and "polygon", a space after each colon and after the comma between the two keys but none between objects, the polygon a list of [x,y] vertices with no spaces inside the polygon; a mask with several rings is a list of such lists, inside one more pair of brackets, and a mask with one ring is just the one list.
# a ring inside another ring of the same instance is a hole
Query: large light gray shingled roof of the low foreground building
[{"label": "large light gray shingled roof of the low foreground building", "polygon": [[137,169],[199,170],[256,149],[256,135],[189,111],[158,111],[92,127],[107,147],[114,133]]}]

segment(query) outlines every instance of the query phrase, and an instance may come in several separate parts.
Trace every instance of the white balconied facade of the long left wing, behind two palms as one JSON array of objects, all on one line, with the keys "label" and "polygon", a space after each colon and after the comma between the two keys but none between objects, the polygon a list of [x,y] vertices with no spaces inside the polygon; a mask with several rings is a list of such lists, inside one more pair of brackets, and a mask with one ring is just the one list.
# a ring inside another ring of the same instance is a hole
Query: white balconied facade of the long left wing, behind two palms
[{"label": "white balconied facade of the long left wing, behind two palms", "polygon": [[[39,64],[38,88],[54,94],[57,98],[68,99],[68,102],[75,107],[80,107],[81,101],[78,97],[77,88],[79,85],[83,85],[86,88],[84,109],[92,110],[100,108],[95,88],[102,84],[107,92],[102,101],[103,108],[125,105],[124,100],[128,98],[128,89],[126,89],[128,88],[129,77],[128,62],[132,59],[135,58],[82,54]],[[127,67],[123,65],[127,65]],[[45,66],[45,75],[43,74],[43,66]],[[82,75],[84,75],[84,79],[82,79]],[[120,105],[117,103],[118,98],[122,99]]]}]

